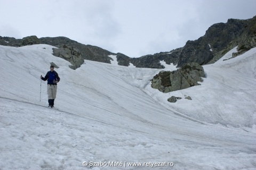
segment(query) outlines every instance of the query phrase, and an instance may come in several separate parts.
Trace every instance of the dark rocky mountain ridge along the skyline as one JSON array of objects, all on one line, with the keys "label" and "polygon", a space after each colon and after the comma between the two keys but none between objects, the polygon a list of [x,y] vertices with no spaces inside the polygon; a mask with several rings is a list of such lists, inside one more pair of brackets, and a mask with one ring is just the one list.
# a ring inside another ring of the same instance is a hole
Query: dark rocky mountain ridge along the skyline
[{"label": "dark rocky mountain ridge along the skyline", "polygon": [[[182,67],[186,63],[210,64],[219,60],[235,46],[237,53],[234,57],[256,46],[256,16],[251,19],[228,19],[227,23],[215,23],[206,30],[205,35],[195,41],[187,41],[186,45],[169,52],[159,52],[130,58],[122,53],[113,53],[98,46],[85,45],[67,37],[42,37],[28,36],[22,39],[0,36],[0,45],[25,46],[33,44],[48,44],[58,48],[70,46],[81,53],[85,60],[111,63],[109,55],[116,55],[120,66],[129,66],[130,63],[138,68],[164,68],[159,61],[166,64],[173,63]],[[58,56],[54,54],[55,56]],[[73,58],[73,60],[75,60]],[[74,69],[81,66],[81,62]]]}]

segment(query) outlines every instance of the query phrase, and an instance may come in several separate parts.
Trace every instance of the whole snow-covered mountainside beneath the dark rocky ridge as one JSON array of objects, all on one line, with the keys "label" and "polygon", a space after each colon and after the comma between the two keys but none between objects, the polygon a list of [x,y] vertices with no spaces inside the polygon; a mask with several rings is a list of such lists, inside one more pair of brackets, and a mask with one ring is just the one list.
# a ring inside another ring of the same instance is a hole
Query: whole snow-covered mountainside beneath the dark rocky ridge
[{"label": "whole snow-covered mountainside beneath the dark rocky ridge", "polygon": [[[170,68],[85,60],[72,70],[52,47],[0,46],[1,170],[256,169],[256,48],[203,66],[201,86],[161,93],[150,79]],[[39,78],[50,62],[55,109]]]}]

